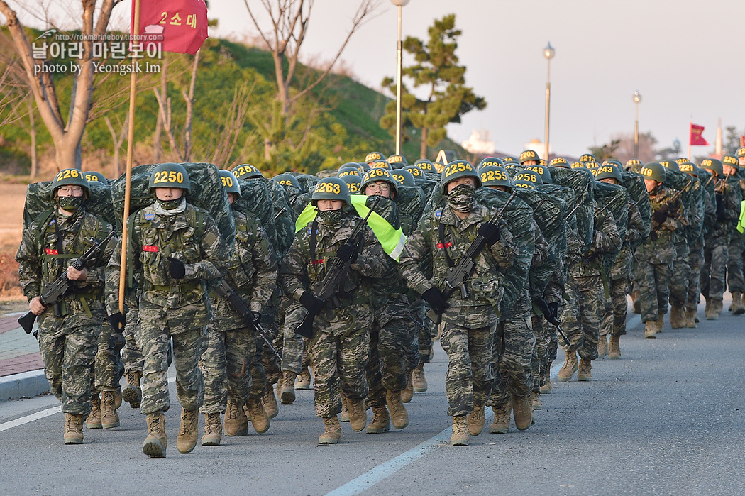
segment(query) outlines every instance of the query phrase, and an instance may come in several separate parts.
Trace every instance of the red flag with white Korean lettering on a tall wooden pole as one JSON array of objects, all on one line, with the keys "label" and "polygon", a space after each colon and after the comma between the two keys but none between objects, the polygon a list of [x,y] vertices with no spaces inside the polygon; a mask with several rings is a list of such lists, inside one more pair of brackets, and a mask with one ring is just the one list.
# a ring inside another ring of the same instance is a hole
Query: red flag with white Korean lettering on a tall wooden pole
[{"label": "red flag with white Korean lettering on a tall wooden pole", "polygon": [[130,34],[134,34],[136,1],[140,2],[141,42],[159,41],[164,51],[194,55],[207,39],[204,0],[132,0]]}]

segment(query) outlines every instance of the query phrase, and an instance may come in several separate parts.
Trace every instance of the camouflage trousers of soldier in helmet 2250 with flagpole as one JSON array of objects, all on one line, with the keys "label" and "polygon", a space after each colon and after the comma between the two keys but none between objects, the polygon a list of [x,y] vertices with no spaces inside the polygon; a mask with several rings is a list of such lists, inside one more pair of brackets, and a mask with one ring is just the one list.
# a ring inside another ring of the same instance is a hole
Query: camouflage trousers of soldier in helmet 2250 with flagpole
[{"label": "camouflage trousers of soldier in helmet 2250 with flagpole", "polygon": [[[204,378],[199,359],[206,346],[207,328],[192,327],[193,318],[173,309],[141,302],[142,408],[140,413],[168,411],[168,349],[173,338],[176,396],[184,410],[199,410],[204,401]],[[173,317],[171,317],[171,315]]]}]

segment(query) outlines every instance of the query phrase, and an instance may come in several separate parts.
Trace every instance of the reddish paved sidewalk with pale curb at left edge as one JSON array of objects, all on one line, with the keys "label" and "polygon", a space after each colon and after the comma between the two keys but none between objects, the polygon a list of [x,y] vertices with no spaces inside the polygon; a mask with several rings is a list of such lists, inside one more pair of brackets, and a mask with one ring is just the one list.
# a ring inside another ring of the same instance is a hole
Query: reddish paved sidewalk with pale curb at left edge
[{"label": "reddish paved sidewalk with pale curb at left edge", "polygon": [[49,390],[39,343],[17,322],[22,314],[0,317],[0,401]]}]

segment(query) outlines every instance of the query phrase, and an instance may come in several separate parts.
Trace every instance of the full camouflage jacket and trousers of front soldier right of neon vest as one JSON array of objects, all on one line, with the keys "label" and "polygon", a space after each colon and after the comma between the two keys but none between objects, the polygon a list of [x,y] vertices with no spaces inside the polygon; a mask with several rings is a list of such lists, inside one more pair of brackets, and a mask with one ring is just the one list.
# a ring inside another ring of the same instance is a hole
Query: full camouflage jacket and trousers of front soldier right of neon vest
[{"label": "full camouflage jacket and trousers of front soldier right of neon vest", "polygon": [[[476,238],[478,226],[492,214],[491,209],[477,203],[463,220],[450,206],[422,218],[401,256],[400,267],[409,287],[420,294],[432,287],[444,290],[448,256],[457,264]],[[444,244],[438,237],[440,223],[446,226]],[[471,413],[474,404],[486,404],[492,390],[492,341],[498,322],[495,309],[504,292],[502,271],[512,267],[517,253],[504,225],[500,234],[499,241],[477,255],[475,271],[466,282],[468,296],[462,298],[456,291],[448,300],[450,307],[443,312],[440,343],[449,358],[445,384],[448,416]],[[419,264],[430,259],[434,276],[428,279]]]}]

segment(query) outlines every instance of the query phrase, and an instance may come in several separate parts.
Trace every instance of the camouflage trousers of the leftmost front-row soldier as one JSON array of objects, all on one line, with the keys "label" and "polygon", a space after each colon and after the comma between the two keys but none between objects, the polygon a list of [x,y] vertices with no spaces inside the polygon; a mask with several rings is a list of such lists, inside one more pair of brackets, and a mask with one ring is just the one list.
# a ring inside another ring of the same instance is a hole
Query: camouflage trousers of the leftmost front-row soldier
[{"label": "camouflage trousers of the leftmost front-row soldier", "polygon": [[[63,413],[88,416],[91,411],[90,367],[101,326],[68,328],[63,319],[47,318],[39,326],[39,351],[51,392]],[[51,324],[51,325],[48,325]]]}]

